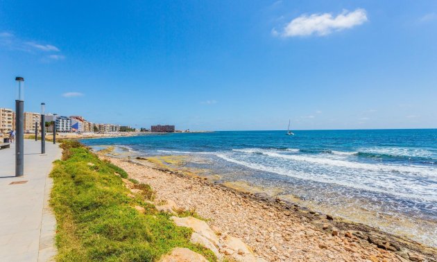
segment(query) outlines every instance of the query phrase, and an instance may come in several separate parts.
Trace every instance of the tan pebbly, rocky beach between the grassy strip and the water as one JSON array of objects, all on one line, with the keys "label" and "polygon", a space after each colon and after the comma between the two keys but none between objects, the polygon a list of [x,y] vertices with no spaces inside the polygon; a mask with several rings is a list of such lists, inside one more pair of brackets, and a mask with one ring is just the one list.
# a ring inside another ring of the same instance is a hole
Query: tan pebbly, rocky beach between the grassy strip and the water
[{"label": "tan pebbly, rocky beach between the grassy strip and the water", "polygon": [[157,199],[196,210],[211,227],[245,241],[268,261],[437,261],[437,250],[298,204],[187,176],[146,159],[100,154],[150,184]]}]

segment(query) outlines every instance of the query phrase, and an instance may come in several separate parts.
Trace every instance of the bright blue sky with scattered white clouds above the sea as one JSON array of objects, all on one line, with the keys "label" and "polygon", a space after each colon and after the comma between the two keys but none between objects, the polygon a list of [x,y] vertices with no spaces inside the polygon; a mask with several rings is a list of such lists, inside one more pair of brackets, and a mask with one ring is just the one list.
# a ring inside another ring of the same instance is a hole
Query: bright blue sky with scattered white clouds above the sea
[{"label": "bright blue sky with scattered white clouds above the sea", "polygon": [[134,128],[437,128],[437,1],[3,1],[0,107]]}]

